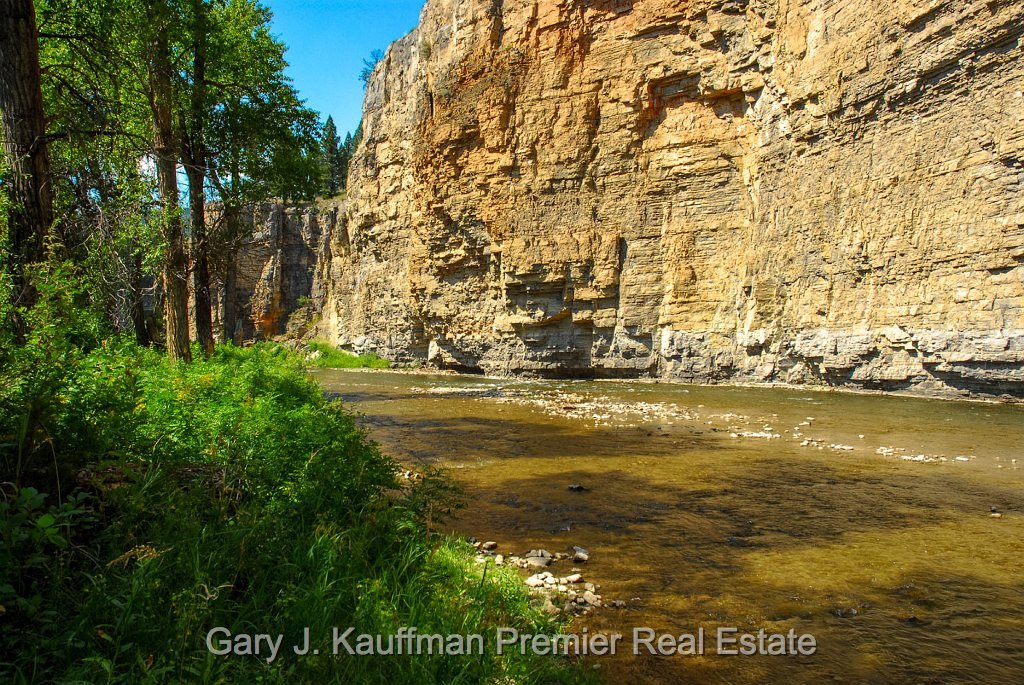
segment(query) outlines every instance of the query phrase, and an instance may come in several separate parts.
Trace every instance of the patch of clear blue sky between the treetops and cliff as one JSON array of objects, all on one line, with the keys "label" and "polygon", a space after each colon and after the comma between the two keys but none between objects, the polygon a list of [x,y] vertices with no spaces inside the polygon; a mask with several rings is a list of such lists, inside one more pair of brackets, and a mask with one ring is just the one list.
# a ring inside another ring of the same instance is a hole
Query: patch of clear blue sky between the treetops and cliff
[{"label": "patch of clear blue sky between the treetops and cliff", "polygon": [[334,117],[341,137],[362,110],[362,60],[416,27],[424,0],[263,0],[288,45],[288,75],[306,104]]}]

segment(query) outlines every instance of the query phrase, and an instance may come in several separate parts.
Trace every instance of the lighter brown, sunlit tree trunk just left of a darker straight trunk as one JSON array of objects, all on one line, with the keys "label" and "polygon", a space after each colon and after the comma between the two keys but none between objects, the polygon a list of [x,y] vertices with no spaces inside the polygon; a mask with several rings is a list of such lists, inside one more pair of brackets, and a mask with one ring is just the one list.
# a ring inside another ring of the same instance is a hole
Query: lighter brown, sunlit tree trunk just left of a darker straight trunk
[{"label": "lighter brown, sunlit tree trunk just left of a darker straight trunk", "polygon": [[[164,323],[167,352],[172,359],[191,360],[188,347],[188,264],[185,258],[181,214],[178,207],[177,162],[179,145],[174,135],[171,55],[168,44],[169,18],[162,2],[158,15],[150,63],[150,100],[154,119],[154,152],[163,206],[164,238]],[[160,11],[163,10],[163,11]]]}]

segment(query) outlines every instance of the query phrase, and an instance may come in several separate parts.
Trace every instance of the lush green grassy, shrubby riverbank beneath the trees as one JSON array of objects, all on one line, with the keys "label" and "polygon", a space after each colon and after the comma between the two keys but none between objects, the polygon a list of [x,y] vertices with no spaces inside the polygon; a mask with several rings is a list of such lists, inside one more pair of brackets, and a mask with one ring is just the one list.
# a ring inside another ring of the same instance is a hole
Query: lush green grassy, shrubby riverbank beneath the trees
[{"label": "lush green grassy, shrubby riverbank beneath the trees", "polygon": [[[552,632],[519,579],[429,532],[443,481],[410,488],[280,346],[181,365],[108,338],[44,293],[0,338],[3,682],[575,682],[498,656],[498,626]],[[43,494],[48,493],[48,494]],[[481,634],[467,656],[330,653],[334,627]],[[222,656],[213,628],[284,634]],[[311,651],[296,655],[308,628]]]}]

